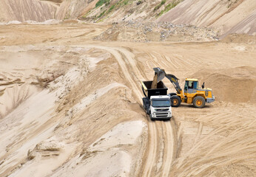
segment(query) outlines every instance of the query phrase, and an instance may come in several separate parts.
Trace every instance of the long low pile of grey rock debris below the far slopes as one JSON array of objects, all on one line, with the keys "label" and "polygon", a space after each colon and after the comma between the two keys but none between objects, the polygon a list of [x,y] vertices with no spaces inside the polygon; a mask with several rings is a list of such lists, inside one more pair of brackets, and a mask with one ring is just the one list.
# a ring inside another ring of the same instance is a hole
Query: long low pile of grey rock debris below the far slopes
[{"label": "long low pile of grey rock debris below the far slopes", "polygon": [[218,32],[206,27],[176,25],[169,22],[124,21],[113,23],[95,37],[99,41],[218,41]]}]

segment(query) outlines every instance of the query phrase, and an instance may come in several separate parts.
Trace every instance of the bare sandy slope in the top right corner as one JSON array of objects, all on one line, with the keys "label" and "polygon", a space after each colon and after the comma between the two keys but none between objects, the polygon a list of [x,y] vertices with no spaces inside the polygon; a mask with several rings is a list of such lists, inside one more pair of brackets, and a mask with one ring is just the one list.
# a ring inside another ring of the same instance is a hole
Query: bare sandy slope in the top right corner
[{"label": "bare sandy slope in the top right corner", "polygon": [[186,0],[158,21],[214,27],[220,30],[220,34],[226,35],[231,32],[253,34],[256,32],[255,9],[254,0]]}]

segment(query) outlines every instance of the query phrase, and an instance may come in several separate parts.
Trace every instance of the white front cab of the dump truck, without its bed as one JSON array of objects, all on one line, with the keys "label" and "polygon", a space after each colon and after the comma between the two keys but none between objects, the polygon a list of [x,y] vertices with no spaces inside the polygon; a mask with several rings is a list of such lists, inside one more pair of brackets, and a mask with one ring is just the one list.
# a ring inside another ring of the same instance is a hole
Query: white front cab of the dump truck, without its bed
[{"label": "white front cab of the dump truck, without its bed", "polygon": [[149,101],[150,119],[171,119],[172,103],[169,95],[151,96]]}]

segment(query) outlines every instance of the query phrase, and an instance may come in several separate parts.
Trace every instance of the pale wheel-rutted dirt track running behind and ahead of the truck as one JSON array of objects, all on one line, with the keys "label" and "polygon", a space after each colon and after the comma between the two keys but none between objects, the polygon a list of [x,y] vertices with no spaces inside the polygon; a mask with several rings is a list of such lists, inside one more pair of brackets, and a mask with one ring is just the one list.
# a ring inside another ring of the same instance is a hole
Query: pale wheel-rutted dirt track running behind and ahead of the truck
[{"label": "pale wheel-rutted dirt track running behind and ahead of the truck", "polygon": [[[107,52],[110,52],[115,59],[118,61],[119,66],[121,67],[122,72],[124,73],[124,77],[129,82],[132,91],[135,94],[137,100],[140,100],[141,97],[144,97],[141,94],[141,87],[136,82],[136,80],[144,80],[144,74],[141,74],[141,71],[138,69],[138,65],[135,60],[135,55],[132,52],[129,52],[127,49],[121,47],[107,47],[107,46],[89,46],[97,49],[104,49]],[[149,54],[148,54],[149,55]],[[155,61],[153,61],[155,63]],[[137,77],[137,78],[135,78]],[[146,153],[144,154],[145,162],[144,167],[141,167],[142,176],[155,176],[156,173],[156,164],[158,163],[158,155],[161,154],[161,148],[158,148],[158,142],[161,141],[159,137],[164,137],[164,152],[162,163],[162,167],[160,169],[163,173],[161,176],[169,176],[169,171],[171,169],[172,164],[172,154],[174,150],[174,143],[172,140],[174,139],[173,128],[171,122],[152,122],[149,120],[147,122],[149,128],[149,141],[146,149]],[[160,133],[164,132],[164,135]],[[159,152],[160,151],[160,152]],[[164,165],[164,166],[163,166]]]}]

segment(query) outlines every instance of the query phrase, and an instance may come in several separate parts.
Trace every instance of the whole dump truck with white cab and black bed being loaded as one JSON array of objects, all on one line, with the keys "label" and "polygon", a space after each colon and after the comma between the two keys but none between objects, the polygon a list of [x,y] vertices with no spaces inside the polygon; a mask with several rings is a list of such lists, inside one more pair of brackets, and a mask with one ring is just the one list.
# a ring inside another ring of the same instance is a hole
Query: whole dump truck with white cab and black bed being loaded
[{"label": "whole dump truck with white cab and black bed being loaded", "polygon": [[158,82],[156,89],[152,89],[153,81],[141,81],[141,88],[145,95],[142,98],[143,106],[146,114],[149,114],[150,119],[172,118],[172,103],[170,96],[167,95],[167,88],[162,81]]}]

